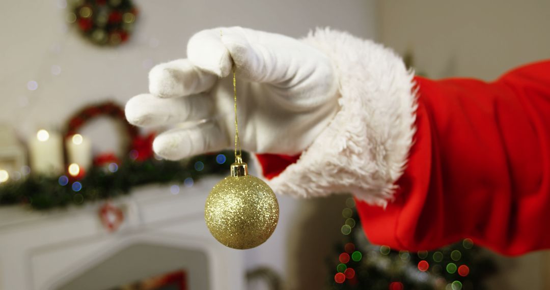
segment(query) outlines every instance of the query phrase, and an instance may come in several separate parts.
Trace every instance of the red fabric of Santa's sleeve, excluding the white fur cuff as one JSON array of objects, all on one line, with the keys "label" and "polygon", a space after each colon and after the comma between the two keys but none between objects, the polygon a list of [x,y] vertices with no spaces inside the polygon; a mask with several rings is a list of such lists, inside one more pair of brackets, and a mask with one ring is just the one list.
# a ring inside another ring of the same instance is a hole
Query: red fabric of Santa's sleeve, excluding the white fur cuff
[{"label": "red fabric of Santa's sleeve, excluding the white fur cuff", "polygon": [[[493,82],[416,82],[417,132],[395,200],[357,202],[370,241],[417,251],[469,237],[508,255],[550,248],[550,61]],[[265,160],[271,176],[292,163]]]}]

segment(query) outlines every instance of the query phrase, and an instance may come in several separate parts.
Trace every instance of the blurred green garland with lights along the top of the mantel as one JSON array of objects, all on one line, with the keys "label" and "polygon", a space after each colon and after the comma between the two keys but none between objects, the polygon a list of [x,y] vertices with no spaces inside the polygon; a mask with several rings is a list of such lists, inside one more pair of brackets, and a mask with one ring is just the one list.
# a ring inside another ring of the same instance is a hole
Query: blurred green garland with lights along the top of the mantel
[{"label": "blurred green garland with lights along the top of the mantel", "polygon": [[[218,154],[224,154],[227,160],[219,164],[216,160]],[[152,158],[136,161],[127,158],[120,163],[116,172],[108,171],[105,166],[91,168],[78,181],[81,184],[79,191],[72,188],[75,181],[63,186],[58,177],[29,176],[24,180],[0,185],[0,206],[25,204],[32,209],[48,210],[115,198],[129,194],[134,187],[151,183],[183,183],[188,177],[197,181],[209,175],[228,175],[232,156],[232,151],[224,151],[183,161]],[[196,168],[198,162],[202,164]]]}]

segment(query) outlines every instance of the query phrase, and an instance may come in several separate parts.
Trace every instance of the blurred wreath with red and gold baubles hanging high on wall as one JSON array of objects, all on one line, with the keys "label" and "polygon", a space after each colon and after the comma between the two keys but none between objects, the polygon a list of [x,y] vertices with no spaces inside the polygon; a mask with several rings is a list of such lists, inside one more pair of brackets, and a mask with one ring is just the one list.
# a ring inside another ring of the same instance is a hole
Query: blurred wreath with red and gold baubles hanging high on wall
[{"label": "blurred wreath with red and gold baubles hanging high on wall", "polygon": [[118,46],[128,41],[137,17],[131,0],[84,0],[72,8],[68,21],[92,43]]}]

